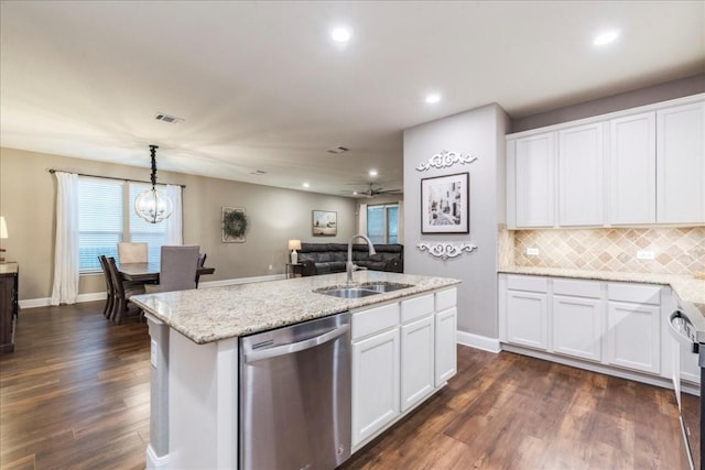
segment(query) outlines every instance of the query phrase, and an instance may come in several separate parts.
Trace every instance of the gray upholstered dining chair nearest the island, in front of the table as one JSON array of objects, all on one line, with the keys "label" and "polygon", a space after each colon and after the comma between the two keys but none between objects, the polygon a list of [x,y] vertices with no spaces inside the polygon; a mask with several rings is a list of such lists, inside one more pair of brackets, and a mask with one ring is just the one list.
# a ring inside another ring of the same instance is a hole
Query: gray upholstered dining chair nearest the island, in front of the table
[{"label": "gray upholstered dining chair nearest the island, in front of the table", "polygon": [[148,293],[196,288],[198,245],[162,245],[159,284],[145,285]]}]

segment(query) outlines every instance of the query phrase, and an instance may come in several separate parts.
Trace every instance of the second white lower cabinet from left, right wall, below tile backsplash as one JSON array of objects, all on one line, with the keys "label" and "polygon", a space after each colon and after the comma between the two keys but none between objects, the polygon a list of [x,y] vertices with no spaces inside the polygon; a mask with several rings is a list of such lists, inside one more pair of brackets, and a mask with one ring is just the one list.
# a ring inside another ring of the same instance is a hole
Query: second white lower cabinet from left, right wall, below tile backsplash
[{"label": "second white lower cabinet from left, right wall, below tile backsplash", "polygon": [[600,283],[553,281],[553,351],[599,362],[603,359]]}]

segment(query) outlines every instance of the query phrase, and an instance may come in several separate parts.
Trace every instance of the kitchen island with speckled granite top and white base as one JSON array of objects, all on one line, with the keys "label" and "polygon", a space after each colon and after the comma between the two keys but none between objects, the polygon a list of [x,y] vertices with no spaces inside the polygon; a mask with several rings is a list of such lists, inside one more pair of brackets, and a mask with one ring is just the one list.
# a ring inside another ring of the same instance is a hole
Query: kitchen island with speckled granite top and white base
[{"label": "kitchen island with speckled granite top and white base", "polygon": [[[421,392],[411,390],[417,382],[417,371],[404,379],[404,357],[400,350],[404,349],[404,328],[411,324],[404,325],[404,315],[395,314],[395,323],[386,324],[383,332],[398,338],[397,362],[392,368],[401,369],[393,390],[398,409],[376,418],[369,426],[362,423],[359,429],[354,429],[354,451],[442,387],[455,373],[455,285],[459,282],[362,271],[355,273],[356,284],[393,283],[408,287],[361,298],[338,298],[317,292],[341,286],[345,281],[345,273],[340,273],[133,297],[147,314],[152,345],[148,468],[238,468],[239,338],[243,336],[343,311],[352,313],[355,331],[358,313],[367,320],[378,307],[384,307],[380,315],[388,318],[391,307],[403,311],[404,304],[410,306],[406,319],[416,321],[421,318],[413,316],[417,305],[425,305],[426,310],[431,305],[432,311],[422,313],[423,321],[431,321],[429,330],[435,331],[430,343],[435,357],[425,361],[431,364],[431,384]],[[409,332],[413,334],[411,329]],[[368,340],[369,336],[358,339]],[[409,358],[408,362],[416,360]],[[371,412],[376,411],[366,409],[365,416]]]}]

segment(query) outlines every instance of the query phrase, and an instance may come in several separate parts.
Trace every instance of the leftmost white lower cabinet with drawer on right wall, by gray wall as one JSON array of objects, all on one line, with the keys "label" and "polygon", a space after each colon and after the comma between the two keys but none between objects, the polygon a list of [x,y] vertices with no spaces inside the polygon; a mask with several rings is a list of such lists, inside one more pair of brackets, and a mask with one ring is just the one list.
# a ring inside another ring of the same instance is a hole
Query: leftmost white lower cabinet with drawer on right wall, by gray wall
[{"label": "leftmost white lower cabinet with drawer on right wall, by gray wall", "polygon": [[546,284],[543,277],[509,277],[506,341],[542,350],[547,348]]}]

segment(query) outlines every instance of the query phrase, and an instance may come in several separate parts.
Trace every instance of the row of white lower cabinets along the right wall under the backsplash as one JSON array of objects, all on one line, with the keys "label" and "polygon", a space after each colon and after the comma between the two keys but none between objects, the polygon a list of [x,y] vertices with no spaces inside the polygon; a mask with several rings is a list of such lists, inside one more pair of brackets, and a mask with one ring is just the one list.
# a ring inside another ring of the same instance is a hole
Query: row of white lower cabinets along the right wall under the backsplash
[{"label": "row of white lower cabinets along the right wall under the backsplash", "polygon": [[668,376],[672,368],[662,364],[662,356],[670,349],[661,343],[668,314],[661,306],[663,287],[528,277],[500,274],[502,342],[592,361],[606,370]]}]

